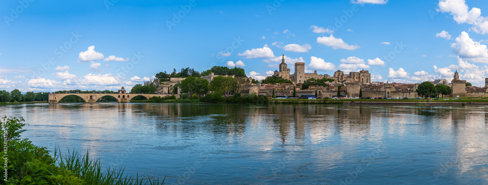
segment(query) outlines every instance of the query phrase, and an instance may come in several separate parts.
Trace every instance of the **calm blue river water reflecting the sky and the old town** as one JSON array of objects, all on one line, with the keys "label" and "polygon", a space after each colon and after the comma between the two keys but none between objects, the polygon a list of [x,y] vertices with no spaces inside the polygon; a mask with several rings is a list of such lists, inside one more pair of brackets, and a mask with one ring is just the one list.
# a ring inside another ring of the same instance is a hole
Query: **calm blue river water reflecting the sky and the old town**
[{"label": "calm blue river water reflecting the sky and the old town", "polygon": [[54,150],[166,184],[488,184],[487,106],[0,106]]}]

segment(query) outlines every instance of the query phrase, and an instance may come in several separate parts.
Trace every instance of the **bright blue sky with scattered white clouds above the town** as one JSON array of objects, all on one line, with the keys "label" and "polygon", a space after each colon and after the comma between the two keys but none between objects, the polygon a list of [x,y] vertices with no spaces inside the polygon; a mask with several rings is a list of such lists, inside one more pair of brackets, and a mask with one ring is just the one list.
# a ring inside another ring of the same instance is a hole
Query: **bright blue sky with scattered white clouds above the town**
[{"label": "bright blue sky with scattered white clouds above the town", "polygon": [[484,0],[1,3],[6,90],[115,90],[182,67],[238,66],[262,79],[282,54],[292,73],[305,62],[319,74],[369,70],[373,81],[488,77]]}]

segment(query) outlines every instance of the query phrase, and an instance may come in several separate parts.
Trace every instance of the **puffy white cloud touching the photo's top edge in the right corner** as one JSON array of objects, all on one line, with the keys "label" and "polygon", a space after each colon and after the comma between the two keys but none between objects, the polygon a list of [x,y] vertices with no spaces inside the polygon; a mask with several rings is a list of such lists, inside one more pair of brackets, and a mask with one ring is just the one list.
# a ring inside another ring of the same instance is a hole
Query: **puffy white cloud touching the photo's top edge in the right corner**
[{"label": "puffy white cloud touching the photo's top edge in the right corner", "polygon": [[465,0],[439,0],[438,11],[449,13],[458,24],[473,25],[470,30],[477,34],[488,34],[488,17],[481,16],[481,9],[471,8]]}]

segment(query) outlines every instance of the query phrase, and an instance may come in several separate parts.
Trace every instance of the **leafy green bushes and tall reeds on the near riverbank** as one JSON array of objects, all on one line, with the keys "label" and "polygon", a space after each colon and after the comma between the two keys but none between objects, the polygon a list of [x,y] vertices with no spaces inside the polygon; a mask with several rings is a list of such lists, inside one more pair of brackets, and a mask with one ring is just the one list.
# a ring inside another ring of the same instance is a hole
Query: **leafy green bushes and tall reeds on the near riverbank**
[{"label": "leafy green bushes and tall reeds on the near riverbank", "polygon": [[[3,135],[0,139],[4,160],[1,166],[2,185],[159,185],[164,179],[142,179],[124,173],[124,168],[102,168],[100,159],[90,159],[89,152],[81,155],[77,151],[61,154],[59,149],[49,155],[45,147],[33,145],[27,138],[20,137],[25,131],[23,118],[0,120]],[[147,180],[148,179],[148,180]]]}]

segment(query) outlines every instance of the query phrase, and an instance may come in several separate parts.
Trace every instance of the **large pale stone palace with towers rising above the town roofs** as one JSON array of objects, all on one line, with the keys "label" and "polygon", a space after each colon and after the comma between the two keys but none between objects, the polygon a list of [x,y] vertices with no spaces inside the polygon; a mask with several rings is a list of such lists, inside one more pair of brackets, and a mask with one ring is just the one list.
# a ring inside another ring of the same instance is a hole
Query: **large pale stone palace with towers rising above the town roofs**
[{"label": "large pale stone palace with towers rising above the town roofs", "polygon": [[290,69],[288,65],[285,63],[285,55],[281,59],[281,64],[279,67],[279,71],[275,70],[273,76],[282,77],[284,79],[288,79],[294,84],[302,84],[306,80],[314,78],[314,79],[322,79],[322,78],[332,78],[336,82],[346,82],[346,83],[371,83],[371,74],[367,70],[361,70],[359,72],[349,72],[349,74],[344,74],[344,72],[338,70],[334,73],[334,77],[331,77],[327,74],[317,74],[317,70],[313,73],[305,73],[305,63],[297,62],[295,63],[295,72],[290,74]]}]

